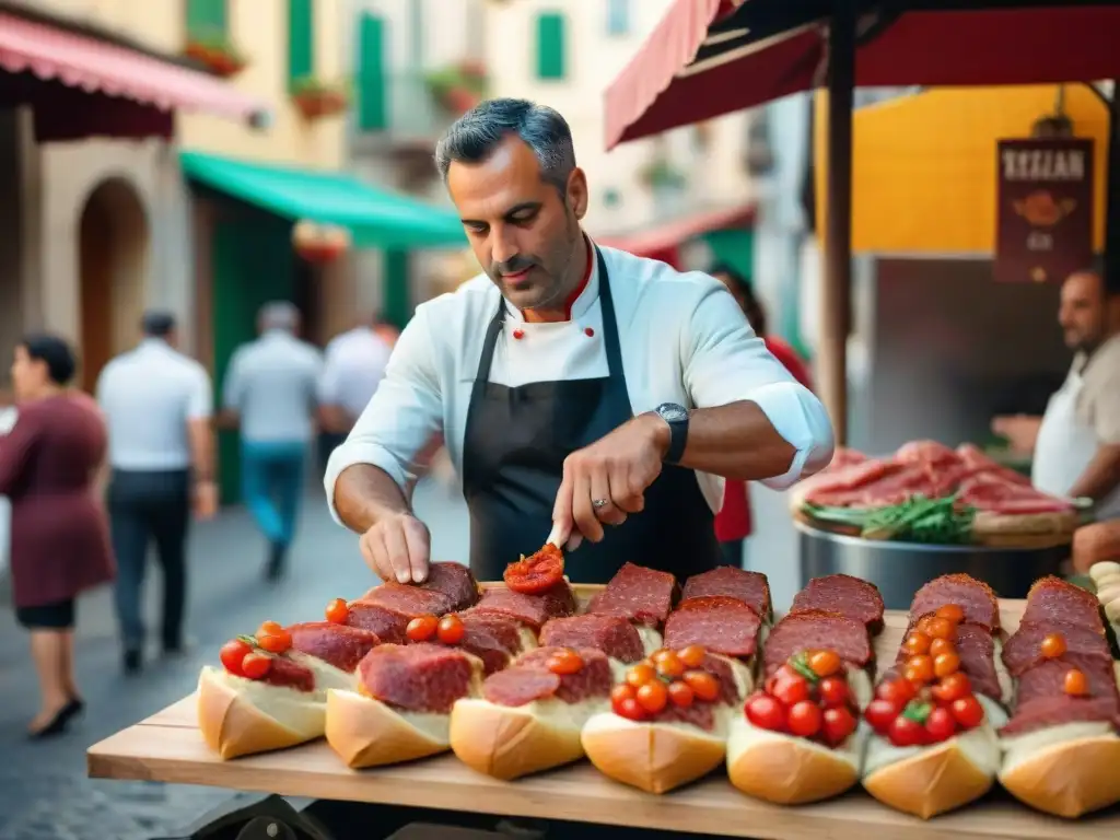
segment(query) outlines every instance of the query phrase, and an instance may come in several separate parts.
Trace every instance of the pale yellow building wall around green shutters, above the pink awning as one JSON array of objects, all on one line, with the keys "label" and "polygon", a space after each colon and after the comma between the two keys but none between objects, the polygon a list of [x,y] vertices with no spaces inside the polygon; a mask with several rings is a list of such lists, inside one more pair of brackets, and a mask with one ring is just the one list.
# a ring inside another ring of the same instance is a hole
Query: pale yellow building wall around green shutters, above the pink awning
[{"label": "pale yellow building wall around green shutters, above the pink awning", "polygon": [[[315,0],[315,64],[323,81],[343,81],[343,2]],[[288,3],[284,0],[227,0],[230,38],[249,59],[227,81],[269,103],[272,124],[253,130],[226,119],[179,114],[183,148],[260,161],[336,169],[344,153],[343,116],[305,121],[288,99]],[[34,0],[47,13],[95,24],[166,53],[183,50],[184,0]]]}]

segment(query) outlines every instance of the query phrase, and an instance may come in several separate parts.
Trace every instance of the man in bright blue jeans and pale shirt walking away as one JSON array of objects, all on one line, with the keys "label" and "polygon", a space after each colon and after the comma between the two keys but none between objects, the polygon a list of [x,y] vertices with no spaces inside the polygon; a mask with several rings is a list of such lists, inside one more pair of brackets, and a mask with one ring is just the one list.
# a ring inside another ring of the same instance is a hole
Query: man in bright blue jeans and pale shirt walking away
[{"label": "man in bright blue jeans and pale shirt walking away", "polygon": [[296,337],[299,311],[287,301],[265,304],[259,326],[260,338],[230,360],[223,403],[241,426],[242,493],[269,541],[265,575],[278,580],[296,533],[321,356]]}]

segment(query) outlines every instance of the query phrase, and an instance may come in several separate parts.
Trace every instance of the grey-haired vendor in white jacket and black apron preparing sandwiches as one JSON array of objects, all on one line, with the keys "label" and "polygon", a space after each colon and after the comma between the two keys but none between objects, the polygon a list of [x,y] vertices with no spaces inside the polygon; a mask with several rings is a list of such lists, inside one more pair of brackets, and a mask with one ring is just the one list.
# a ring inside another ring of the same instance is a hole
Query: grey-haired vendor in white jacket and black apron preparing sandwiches
[{"label": "grey-haired vendor in white jacket and black apron preparing sandwiches", "polygon": [[553,525],[575,582],[605,582],[627,560],[678,577],[711,569],[720,476],[782,488],[829,463],[823,407],[722,283],[584,234],[587,176],[559,113],[484,102],[436,157],[486,273],[418,307],[330,458],[332,511],[377,575],[427,576],[409,489],[437,431],[483,580]]}]

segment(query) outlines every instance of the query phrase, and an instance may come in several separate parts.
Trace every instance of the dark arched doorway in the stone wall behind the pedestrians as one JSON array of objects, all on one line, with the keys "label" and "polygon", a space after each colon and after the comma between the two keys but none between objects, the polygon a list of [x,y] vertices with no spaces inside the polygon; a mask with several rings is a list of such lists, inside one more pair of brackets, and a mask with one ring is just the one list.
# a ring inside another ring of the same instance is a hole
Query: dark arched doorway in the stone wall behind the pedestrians
[{"label": "dark arched doorway in the stone wall behind the pedestrians", "polygon": [[123,178],[99,184],[82,209],[78,234],[82,386],[137,335],[148,264],[148,218]]}]

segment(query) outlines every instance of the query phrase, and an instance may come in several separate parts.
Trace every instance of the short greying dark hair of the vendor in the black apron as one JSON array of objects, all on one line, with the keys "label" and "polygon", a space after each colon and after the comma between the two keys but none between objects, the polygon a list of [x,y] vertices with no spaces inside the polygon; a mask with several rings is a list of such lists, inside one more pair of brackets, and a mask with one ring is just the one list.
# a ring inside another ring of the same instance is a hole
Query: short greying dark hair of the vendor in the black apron
[{"label": "short greying dark hair of the vendor in the black apron", "polygon": [[436,146],[440,177],[447,180],[452,161],[483,162],[510,134],[533,150],[541,177],[562,194],[576,168],[571,129],[559,111],[529,100],[487,100],[456,120]]}]

